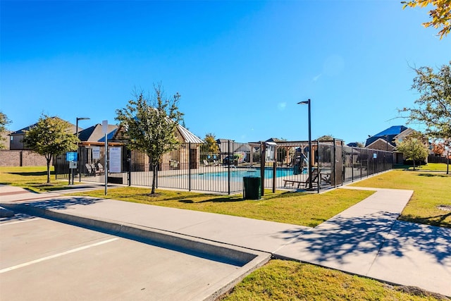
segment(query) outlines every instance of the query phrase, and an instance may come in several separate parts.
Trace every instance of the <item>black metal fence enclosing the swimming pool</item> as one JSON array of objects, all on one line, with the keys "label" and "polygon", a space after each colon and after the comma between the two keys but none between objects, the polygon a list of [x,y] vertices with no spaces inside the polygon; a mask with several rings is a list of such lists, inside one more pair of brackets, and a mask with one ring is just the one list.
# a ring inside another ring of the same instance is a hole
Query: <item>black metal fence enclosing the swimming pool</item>
[{"label": "black metal fence enclosing the swimming pool", "polygon": [[[109,147],[108,171],[104,146],[80,147],[75,180],[105,183],[106,176],[108,183],[151,187],[149,157],[125,145],[113,147],[116,156],[111,157]],[[309,188],[311,159],[312,188],[319,191],[393,168],[392,152],[346,147],[340,140],[314,142],[312,152],[308,142],[278,142],[271,161],[261,160],[265,149],[265,142],[228,141],[214,152],[209,145],[181,144],[163,156],[155,171],[156,187],[232,194],[242,191],[243,177],[259,176],[264,188],[304,190]],[[68,177],[64,156],[57,157],[55,171],[58,178]]]}]

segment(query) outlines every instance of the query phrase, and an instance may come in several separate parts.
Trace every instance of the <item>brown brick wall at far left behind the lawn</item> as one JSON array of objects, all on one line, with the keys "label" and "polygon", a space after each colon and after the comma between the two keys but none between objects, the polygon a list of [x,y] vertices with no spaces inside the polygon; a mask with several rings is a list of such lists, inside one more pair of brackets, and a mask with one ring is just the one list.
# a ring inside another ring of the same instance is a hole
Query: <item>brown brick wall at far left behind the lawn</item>
[{"label": "brown brick wall at far left behind the lawn", "polygon": [[32,151],[0,149],[0,166],[47,166],[47,161]]}]

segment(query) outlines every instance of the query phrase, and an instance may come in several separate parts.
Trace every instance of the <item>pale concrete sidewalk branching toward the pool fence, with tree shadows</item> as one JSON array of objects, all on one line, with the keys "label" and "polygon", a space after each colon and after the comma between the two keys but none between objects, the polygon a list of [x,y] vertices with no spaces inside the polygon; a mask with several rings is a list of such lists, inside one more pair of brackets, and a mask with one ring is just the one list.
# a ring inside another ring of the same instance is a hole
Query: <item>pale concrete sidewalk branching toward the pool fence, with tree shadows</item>
[{"label": "pale concrete sidewalk branching toward the pool fence, with tree shadows", "polygon": [[[54,213],[271,252],[274,257],[451,296],[451,229],[396,220],[412,193],[377,189],[362,202],[309,228],[113,199],[36,195],[0,186],[1,202],[10,205],[25,204]],[[33,196],[37,199],[33,200]]]}]

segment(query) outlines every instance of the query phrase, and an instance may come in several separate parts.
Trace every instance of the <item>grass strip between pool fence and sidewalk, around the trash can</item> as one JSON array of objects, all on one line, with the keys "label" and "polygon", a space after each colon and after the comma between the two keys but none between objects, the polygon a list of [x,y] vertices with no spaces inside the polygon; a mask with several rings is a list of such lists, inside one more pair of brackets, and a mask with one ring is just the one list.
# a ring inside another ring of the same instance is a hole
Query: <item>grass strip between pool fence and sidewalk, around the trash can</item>
[{"label": "grass strip between pool fence and sidewalk, around the trash can", "polygon": [[[272,193],[271,190],[265,190],[265,195],[260,200],[244,200],[242,195],[206,195],[172,190],[156,190],[156,193],[156,196],[150,196],[149,188],[124,187],[110,189],[108,197],[127,202],[314,227],[369,197],[373,192],[333,190],[318,195],[305,192],[277,191]],[[76,195],[105,197],[104,190]]]}]

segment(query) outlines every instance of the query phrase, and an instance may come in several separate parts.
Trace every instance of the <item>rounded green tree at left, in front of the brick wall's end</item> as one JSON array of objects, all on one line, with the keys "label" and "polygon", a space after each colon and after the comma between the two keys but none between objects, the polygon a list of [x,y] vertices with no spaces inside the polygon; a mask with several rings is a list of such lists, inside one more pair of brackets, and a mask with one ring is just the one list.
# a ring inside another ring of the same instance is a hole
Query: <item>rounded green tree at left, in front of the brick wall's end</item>
[{"label": "rounded green tree at left, in front of the brick wall's end", "polygon": [[47,183],[50,183],[50,161],[58,154],[77,150],[78,138],[70,130],[70,123],[58,117],[42,114],[30,130],[25,131],[23,143],[47,160]]}]

